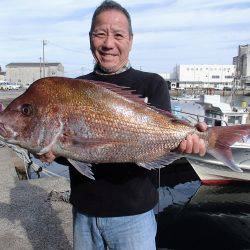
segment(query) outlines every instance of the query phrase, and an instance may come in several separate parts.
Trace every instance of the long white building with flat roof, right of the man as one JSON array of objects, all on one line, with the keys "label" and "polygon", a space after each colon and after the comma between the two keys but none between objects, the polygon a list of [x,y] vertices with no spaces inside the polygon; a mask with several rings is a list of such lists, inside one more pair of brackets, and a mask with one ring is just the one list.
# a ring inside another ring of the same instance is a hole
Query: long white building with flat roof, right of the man
[{"label": "long white building with flat roof, right of the man", "polygon": [[177,87],[231,89],[236,74],[235,65],[181,64],[174,68]]}]

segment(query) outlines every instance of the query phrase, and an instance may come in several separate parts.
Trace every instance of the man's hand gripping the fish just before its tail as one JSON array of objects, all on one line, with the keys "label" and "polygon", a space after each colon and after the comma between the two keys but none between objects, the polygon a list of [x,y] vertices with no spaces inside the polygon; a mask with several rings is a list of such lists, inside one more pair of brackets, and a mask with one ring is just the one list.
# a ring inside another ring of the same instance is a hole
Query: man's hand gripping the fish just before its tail
[{"label": "man's hand gripping the fish just before its tail", "polygon": [[[199,122],[196,124],[196,128],[200,132],[207,130],[207,124],[205,122]],[[178,147],[178,150],[185,154],[199,154],[204,156],[206,154],[205,142],[200,139],[198,135],[188,135],[187,138],[182,141]]]}]

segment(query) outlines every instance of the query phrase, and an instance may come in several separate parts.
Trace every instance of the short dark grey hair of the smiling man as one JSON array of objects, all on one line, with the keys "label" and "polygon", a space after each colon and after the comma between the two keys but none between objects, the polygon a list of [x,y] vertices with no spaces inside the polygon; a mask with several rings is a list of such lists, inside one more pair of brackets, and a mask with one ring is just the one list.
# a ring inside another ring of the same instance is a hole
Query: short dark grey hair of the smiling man
[{"label": "short dark grey hair of the smiling man", "polygon": [[122,7],[119,3],[112,1],[112,0],[105,0],[96,8],[96,10],[93,14],[93,17],[92,17],[91,28],[90,28],[90,32],[89,32],[90,35],[93,32],[96,17],[99,14],[101,14],[103,11],[106,11],[106,10],[117,10],[117,11],[120,11],[121,13],[123,13],[128,20],[129,34],[131,36],[133,35],[131,17],[129,15],[128,11],[124,7]]}]

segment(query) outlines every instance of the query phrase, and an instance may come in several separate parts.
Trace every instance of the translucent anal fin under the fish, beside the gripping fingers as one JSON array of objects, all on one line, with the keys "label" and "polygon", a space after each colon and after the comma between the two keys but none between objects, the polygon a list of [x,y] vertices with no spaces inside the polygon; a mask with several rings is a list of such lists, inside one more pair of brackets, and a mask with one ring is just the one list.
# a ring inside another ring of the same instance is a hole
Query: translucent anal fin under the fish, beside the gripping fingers
[{"label": "translucent anal fin under the fish, beside the gripping fingers", "polygon": [[183,157],[182,154],[179,153],[175,153],[175,152],[170,152],[168,154],[166,154],[165,156],[152,161],[152,162],[139,162],[136,163],[138,166],[152,170],[152,169],[159,169],[159,168],[163,168],[166,165],[169,165],[170,163],[174,162],[175,160],[180,159],[181,157]]}]

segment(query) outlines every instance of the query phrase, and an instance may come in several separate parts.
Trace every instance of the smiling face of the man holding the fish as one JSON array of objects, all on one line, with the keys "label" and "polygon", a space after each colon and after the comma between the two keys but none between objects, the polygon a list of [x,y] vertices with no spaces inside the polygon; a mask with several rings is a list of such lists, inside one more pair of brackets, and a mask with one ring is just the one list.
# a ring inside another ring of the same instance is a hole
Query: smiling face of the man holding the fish
[{"label": "smiling face of the man holding the fish", "polygon": [[109,73],[127,63],[132,41],[127,18],[122,12],[107,10],[96,17],[90,35],[91,50],[97,63]]}]

